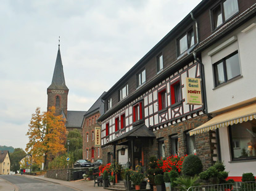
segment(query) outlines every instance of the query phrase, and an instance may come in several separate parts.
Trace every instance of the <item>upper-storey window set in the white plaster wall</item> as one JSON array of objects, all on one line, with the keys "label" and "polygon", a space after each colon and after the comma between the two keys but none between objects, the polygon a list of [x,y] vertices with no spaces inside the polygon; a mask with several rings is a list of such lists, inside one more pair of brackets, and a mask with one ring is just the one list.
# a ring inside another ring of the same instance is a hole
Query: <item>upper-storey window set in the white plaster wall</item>
[{"label": "upper-storey window set in the white plaster wall", "polygon": [[215,87],[228,82],[230,79],[233,79],[236,76],[240,76],[241,72],[238,52],[235,51],[224,59],[214,63],[213,71],[215,76]]}]

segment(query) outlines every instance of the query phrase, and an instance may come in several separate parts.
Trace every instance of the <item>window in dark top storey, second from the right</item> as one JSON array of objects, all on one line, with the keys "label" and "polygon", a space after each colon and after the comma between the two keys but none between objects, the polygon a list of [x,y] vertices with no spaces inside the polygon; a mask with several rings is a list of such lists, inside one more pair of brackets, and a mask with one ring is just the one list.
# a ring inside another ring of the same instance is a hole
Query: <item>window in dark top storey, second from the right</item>
[{"label": "window in dark top storey, second from the right", "polygon": [[178,39],[178,55],[186,52],[194,44],[194,31],[191,29]]}]

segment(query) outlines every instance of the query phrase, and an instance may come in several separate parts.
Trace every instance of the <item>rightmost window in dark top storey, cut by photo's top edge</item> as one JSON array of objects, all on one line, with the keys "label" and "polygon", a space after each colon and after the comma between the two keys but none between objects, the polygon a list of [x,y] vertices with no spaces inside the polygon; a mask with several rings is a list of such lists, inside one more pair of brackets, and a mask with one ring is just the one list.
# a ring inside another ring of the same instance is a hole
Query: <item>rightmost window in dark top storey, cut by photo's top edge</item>
[{"label": "rightmost window in dark top storey, cut by photo's top edge", "polygon": [[237,0],[226,0],[220,2],[212,9],[213,30],[238,12]]}]

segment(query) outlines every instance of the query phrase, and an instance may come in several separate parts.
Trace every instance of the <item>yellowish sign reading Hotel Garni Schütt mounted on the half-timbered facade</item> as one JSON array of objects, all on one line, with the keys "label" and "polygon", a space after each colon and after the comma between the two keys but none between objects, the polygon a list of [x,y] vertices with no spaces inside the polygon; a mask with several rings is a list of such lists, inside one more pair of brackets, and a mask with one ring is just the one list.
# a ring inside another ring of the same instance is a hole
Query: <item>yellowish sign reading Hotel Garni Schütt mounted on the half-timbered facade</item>
[{"label": "yellowish sign reading Hotel Garni Sch\u00fctt mounted on the half-timbered facade", "polygon": [[202,105],[201,80],[199,78],[186,78],[185,96],[186,104]]}]

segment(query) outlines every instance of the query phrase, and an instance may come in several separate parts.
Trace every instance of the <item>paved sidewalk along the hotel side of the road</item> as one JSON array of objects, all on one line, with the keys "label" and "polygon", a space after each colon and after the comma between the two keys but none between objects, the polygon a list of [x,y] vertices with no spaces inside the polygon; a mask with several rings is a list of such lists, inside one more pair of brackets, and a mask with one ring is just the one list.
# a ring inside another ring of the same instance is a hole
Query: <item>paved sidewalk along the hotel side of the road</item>
[{"label": "paved sidewalk along the hotel side of the road", "polygon": [[[78,180],[78,181],[61,181],[58,179],[51,179],[48,177],[42,176],[30,176],[30,175],[22,175],[26,177],[30,177],[32,179],[39,179],[42,181],[47,181],[47,182],[53,182],[56,184],[61,184],[65,185],[68,187],[72,187],[72,189],[80,190],[80,191],[99,191],[99,190],[104,190],[103,187],[97,187],[97,184],[95,187],[93,186],[94,181],[85,181],[84,179]],[[0,189],[1,190],[1,189]],[[1,191],[6,191],[6,190],[1,190]]]}]

